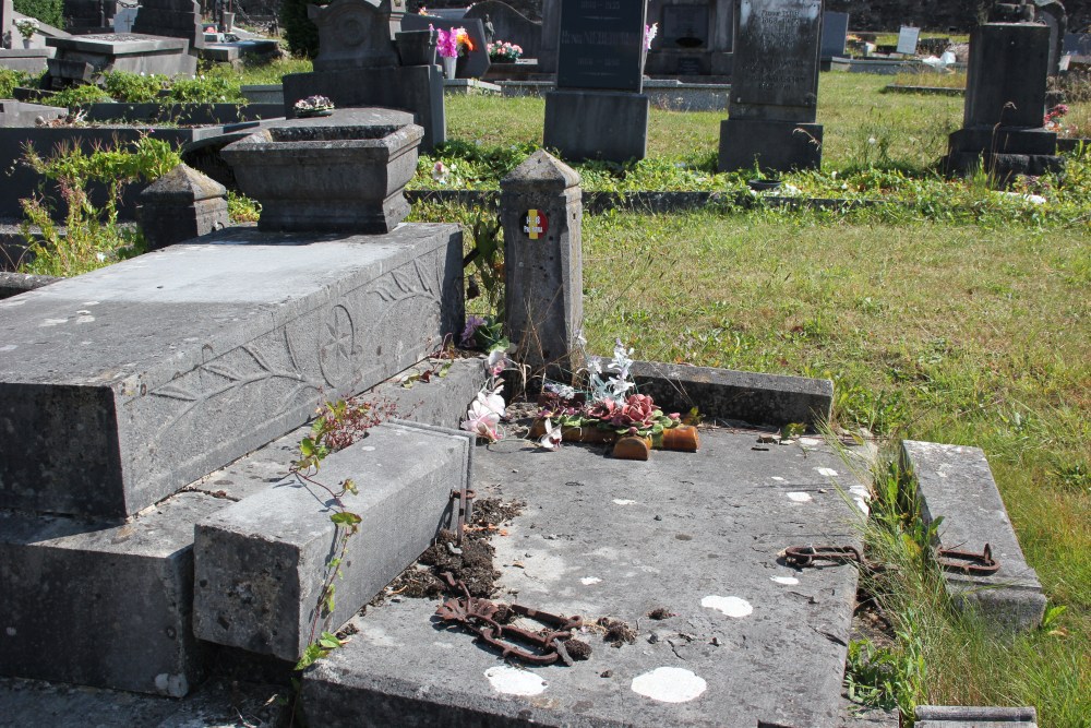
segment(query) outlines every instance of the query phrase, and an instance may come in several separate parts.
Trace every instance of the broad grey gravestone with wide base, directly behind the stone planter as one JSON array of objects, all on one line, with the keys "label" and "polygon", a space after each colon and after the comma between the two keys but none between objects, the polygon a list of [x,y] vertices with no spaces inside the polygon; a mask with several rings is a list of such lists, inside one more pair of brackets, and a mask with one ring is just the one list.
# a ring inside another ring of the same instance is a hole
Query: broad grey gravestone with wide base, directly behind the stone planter
[{"label": "broad grey gravestone with wide base, directly behind the stone planter", "polygon": [[415,17],[404,14],[405,0],[335,0],[311,8],[319,57],[314,71],[284,76],[285,116],[293,118],[297,100],[319,94],[337,108],[377,106],[412,114],[424,130],[423,152],[446,141],[443,74],[434,63],[403,64],[395,50],[396,33]]}]

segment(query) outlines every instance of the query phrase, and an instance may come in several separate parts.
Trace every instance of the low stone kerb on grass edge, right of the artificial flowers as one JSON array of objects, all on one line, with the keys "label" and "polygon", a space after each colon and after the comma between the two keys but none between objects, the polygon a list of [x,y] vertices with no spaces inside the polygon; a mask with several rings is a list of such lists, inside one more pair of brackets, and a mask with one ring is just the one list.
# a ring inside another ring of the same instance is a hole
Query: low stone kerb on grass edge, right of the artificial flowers
[{"label": "low stone kerb on grass edge, right of the artificial flowers", "polygon": [[816,430],[829,420],[834,383],[827,379],[681,367],[637,361],[633,379],[664,413],[697,407],[704,417],[783,427],[802,422]]}]

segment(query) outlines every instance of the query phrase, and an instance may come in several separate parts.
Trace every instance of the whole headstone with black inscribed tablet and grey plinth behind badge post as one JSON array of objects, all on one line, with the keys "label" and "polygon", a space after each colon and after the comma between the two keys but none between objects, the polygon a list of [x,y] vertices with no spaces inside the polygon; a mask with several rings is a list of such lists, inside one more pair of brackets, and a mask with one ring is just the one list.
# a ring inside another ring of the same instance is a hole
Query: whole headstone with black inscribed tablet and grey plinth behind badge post
[{"label": "whole headstone with black inscribed tablet and grey plinth behind badge post", "polygon": [[647,155],[644,21],[643,2],[562,2],[556,91],[546,95],[544,146],[570,160]]}]

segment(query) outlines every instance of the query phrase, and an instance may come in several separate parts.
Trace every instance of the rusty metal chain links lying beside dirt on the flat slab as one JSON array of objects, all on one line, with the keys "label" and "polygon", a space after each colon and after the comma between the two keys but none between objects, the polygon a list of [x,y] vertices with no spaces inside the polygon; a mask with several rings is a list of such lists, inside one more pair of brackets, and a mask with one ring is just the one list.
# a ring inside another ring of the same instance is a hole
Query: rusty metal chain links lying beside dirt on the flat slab
[{"label": "rusty metal chain links lying beside dirt on the flat slab", "polygon": [[573,631],[583,626],[584,620],[579,616],[562,617],[513,604],[507,605],[506,609],[553,629],[531,632],[501,624],[496,621],[501,605],[470,596],[466,584],[456,582],[451,572],[445,572],[443,577],[449,586],[460,589],[464,596],[453,597],[440,605],[435,610],[436,617],[475,632],[481,642],[500,651],[504,659],[517,659],[527,665],[552,665],[558,660],[572,665],[573,659],[564,647],[564,641],[572,639]]}]

